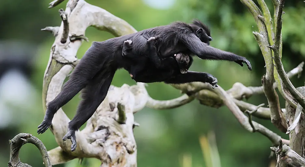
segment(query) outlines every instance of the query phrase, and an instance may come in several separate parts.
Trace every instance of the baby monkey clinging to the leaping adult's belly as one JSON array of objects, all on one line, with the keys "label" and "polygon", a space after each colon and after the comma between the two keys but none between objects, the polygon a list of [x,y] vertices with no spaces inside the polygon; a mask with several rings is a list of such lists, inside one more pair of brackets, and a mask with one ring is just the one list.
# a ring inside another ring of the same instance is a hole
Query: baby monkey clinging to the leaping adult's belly
[{"label": "baby monkey clinging to the leaping adult's belly", "polygon": [[[134,38],[137,38],[135,36]],[[143,37],[140,37],[143,38]],[[122,55],[124,57],[127,57],[131,59],[134,63],[130,67],[130,76],[133,79],[136,79],[136,76],[139,72],[144,70],[144,68],[147,66],[147,63],[152,63],[156,65],[157,69],[163,69],[164,72],[165,68],[169,69],[169,73],[174,72],[175,68],[172,68],[169,66],[168,59],[171,59],[172,57],[161,57],[158,55],[158,50],[157,50],[157,43],[158,43],[157,37],[150,37],[147,40],[147,46],[145,47],[144,54],[142,55],[137,55],[136,53],[132,52],[132,40],[126,40],[124,41],[123,44],[123,49],[122,49]],[[176,57],[177,54],[174,54],[174,57],[176,58],[180,72],[181,73],[186,73],[188,71],[188,64],[189,64],[189,56],[184,55],[184,54],[178,54],[178,57]],[[142,71],[145,72],[145,71]],[[171,75],[171,74],[168,74]]]}]

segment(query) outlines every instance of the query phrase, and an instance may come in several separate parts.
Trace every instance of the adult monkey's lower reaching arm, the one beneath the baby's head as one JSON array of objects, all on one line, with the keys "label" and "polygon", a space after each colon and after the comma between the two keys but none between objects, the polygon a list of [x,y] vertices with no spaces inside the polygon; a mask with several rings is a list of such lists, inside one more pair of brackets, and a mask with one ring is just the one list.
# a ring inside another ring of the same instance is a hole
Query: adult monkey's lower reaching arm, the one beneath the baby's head
[{"label": "adult monkey's lower reaching arm, the one beneath the baby's head", "polygon": [[188,82],[207,82],[210,83],[213,88],[217,87],[217,78],[209,73],[188,71],[185,74],[179,74],[174,78],[170,78],[165,83],[181,84]]}]

